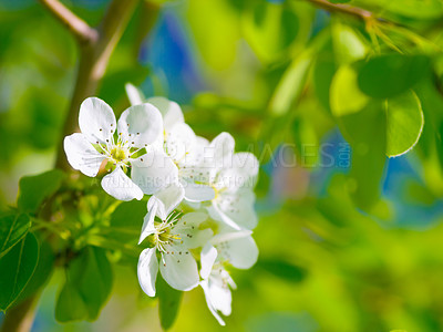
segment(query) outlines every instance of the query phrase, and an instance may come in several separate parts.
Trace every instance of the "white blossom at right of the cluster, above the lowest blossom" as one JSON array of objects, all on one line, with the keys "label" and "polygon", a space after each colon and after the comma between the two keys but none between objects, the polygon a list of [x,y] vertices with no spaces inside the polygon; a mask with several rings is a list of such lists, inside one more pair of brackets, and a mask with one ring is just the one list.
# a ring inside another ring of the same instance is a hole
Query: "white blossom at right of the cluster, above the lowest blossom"
[{"label": "white blossom at right of the cluster, above the lowest blossom", "polygon": [[[210,216],[235,229],[254,229],[257,215],[254,209],[254,186],[259,163],[251,153],[234,153],[233,136],[222,133],[205,143],[199,167],[194,167],[194,177],[210,185],[216,195],[207,207]],[[209,157],[208,157],[209,155]],[[199,177],[200,176],[200,177]]]}]

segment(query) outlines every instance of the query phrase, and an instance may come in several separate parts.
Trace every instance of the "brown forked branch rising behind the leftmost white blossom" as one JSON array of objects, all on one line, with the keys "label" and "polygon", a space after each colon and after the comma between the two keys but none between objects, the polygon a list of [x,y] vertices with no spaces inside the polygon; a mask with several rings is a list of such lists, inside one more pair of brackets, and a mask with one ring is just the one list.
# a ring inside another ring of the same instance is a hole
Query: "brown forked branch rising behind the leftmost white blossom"
[{"label": "brown forked branch rising behind the leftmost white blossom", "polygon": [[[140,0],[113,0],[97,29],[89,27],[58,0],[40,0],[78,40],[80,59],[76,81],[63,126],[62,138],[76,131],[80,104],[95,94],[106,71],[109,60],[125,30]],[[55,167],[71,169],[63,151],[62,139]],[[31,330],[38,295],[24,300],[8,311],[0,332]]]}]

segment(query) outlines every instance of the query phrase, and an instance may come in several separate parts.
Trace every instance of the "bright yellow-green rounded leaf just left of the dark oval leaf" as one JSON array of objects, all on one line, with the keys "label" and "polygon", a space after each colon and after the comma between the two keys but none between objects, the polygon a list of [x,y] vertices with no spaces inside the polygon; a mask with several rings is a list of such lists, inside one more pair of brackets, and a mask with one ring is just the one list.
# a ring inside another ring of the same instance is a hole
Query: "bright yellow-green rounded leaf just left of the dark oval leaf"
[{"label": "bright yellow-green rounded leaf just left of the dark oval leaf", "polygon": [[357,72],[351,65],[342,65],[332,79],[330,87],[331,113],[343,116],[360,112],[369,102],[357,83]]}]

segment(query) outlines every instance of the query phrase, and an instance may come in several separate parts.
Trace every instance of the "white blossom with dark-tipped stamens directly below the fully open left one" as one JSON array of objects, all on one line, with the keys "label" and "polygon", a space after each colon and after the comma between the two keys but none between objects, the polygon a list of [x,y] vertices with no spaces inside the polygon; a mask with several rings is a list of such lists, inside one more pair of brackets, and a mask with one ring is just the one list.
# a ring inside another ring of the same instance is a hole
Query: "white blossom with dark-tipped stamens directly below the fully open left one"
[{"label": "white blossom with dark-tipped stamens directly below the fully open left one", "polygon": [[[148,212],[140,242],[150,237],[153,248],[142,251],[137,273],[143,291],[150,297],[155,295],[158,267],[163,279],[177,290],[187,291],[198,286],[197,262],[189,250],[206,243],[213,231],[199,229],[207,214],[189,212],[182,216],[174,211],[183,197],[183,187],[172,184],[147,203]],[[159,220],[155,220],[155,217]]]}]

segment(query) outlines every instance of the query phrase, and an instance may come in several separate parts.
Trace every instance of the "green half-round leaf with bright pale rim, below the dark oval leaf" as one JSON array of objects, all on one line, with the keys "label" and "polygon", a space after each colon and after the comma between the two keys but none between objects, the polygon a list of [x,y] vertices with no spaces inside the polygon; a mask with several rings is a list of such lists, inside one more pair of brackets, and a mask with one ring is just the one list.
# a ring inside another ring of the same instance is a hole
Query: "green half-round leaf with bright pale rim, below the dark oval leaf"
[{"label": "green half-round leaf with bright pale rim, below the dark oval leaf", "polygon": [[396,157],[408,153],[419,142],[424,116],[419,97],[412,91],[385,102],[387,155]]}]

